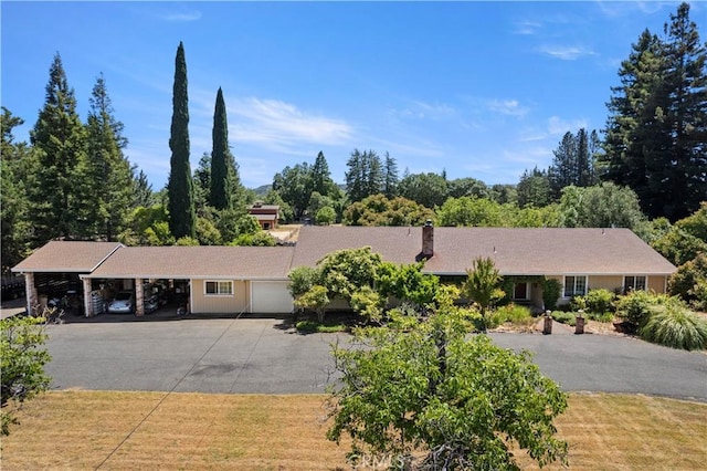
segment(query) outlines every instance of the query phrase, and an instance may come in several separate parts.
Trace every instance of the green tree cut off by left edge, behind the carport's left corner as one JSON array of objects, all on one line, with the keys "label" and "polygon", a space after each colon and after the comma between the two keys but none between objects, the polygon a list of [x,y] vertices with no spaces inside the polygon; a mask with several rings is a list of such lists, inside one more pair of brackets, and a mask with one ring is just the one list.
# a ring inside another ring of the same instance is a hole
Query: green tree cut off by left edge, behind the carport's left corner
[{"label": "green tree cut off by left edge, behind the carport's left corner", "polygon": [[18,264],[30,249],[29,201],[25,184],[32,169],[32,153],[15,143],[12,129],[24,121],[2,107],[0,115],[0,260],[2,273]]}]

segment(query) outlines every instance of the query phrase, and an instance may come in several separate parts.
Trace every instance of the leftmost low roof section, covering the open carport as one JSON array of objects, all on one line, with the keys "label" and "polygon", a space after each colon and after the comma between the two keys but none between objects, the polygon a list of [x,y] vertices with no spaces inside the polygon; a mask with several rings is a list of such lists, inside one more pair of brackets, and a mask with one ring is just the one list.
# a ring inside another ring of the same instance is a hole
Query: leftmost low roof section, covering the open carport
[{"label": "leftmost low roof section, covering the open carport", "polygon": [[120,247],[118,242],[50,241],[12,271],[89,273]]}]

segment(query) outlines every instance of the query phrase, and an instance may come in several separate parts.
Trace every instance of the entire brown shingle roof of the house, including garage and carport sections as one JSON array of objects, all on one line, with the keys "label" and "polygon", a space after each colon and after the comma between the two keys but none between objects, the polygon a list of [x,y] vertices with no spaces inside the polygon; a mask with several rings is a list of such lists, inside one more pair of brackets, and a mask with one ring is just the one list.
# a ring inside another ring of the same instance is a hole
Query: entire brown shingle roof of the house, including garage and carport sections
[{"label": "entire brown shingle roof of the house, including garage and carport sections", "polygon": [[[409,264],[422,251],[420,227],[304,226],[295,247],[124,247],[50,242],[14,272],[80,272],[91,278],[286,280],[330,252],[370,247],[386,261]],[[465,275],[489,257],[502,275],[667,275],[675,266],[629,229],[433,228],[434,254],[424,271]]]}]

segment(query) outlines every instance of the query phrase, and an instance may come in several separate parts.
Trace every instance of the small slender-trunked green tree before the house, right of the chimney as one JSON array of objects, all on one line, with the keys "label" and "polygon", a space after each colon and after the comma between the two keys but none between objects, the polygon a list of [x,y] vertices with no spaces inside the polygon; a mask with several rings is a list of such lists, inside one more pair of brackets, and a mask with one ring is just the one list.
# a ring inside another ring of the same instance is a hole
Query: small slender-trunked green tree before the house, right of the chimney
[{"label": "small slender-trunked green tree before the house, right of the chimney", "polygon": [[462,293],[469,301],[478,304],[482,314],[482,332],[486,332],[486,325],[488,325],[489,307],[506,294],[500,289],[502,280],[498,269],[489,258],[475,259],[472,262],[472,268],[466,271],[466,281],[462,285]]}]

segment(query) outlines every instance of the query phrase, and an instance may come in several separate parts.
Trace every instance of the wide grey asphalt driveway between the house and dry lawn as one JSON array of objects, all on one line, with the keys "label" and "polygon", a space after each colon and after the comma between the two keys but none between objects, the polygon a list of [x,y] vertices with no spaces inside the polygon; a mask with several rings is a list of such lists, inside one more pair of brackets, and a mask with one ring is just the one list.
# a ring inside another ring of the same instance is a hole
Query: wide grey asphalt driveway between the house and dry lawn
[{"label": "wide grey asphalt driveway between the house and dry lawn", "polygon": [[[97,322],[104,317],[104,322]],[[88,320],[86,320],[88,321]],[[323,393],[331,344],[345,334],[295,333],[277,318],[98,316],[49,326],[59,389],[202,393]],[[604,335],[490,334],[534,352],[567,391],[640,393],[707,401],[707,355]]]}]

